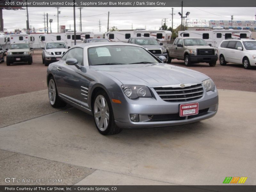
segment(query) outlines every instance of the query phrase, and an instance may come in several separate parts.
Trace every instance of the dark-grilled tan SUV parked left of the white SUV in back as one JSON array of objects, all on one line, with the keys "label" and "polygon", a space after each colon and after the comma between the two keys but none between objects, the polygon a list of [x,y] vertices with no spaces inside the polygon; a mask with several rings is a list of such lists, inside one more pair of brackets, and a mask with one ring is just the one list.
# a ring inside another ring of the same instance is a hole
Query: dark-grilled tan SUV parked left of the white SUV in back
[{"label": "dark-grilled tan SUV parked left of the white SUV in back", "polygon": [[31,65],[33,62],[32,48],[28,43],[13,43],[9,49],[6,49],[6,65],[10,66],[14,62],[28,62]]}]

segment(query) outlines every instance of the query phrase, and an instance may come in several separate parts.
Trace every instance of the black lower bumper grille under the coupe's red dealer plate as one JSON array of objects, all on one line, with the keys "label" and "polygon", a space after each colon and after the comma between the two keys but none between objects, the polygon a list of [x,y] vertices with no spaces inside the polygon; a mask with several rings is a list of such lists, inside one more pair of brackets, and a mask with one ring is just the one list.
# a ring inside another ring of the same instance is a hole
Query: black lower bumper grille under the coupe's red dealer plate
[{"label": "black lower bumper grille under the coupe's red dealer plate", "polygon": [[[208,113],[209,108],[201,109],[197,115],[190,115],[188,119],[192,119],[199,116],[204,116]],[[179,113],[174,114],[160,114],[160,115],[148,115],[150,121],[178,121],[186,119],[186,116],[180,117]]]}]

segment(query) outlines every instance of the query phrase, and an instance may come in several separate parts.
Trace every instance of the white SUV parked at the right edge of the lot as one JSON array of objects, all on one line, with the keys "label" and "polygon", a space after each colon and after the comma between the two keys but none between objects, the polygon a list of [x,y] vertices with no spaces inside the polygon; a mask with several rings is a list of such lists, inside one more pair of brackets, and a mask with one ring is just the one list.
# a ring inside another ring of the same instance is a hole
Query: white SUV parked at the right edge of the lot
[{"label": "white SUV parked at the right edge of the lot", "polygon": [[228,62],[243,64],[245,69],[256,66],[256,40],[227,39],[218,47],[220,65]]}]

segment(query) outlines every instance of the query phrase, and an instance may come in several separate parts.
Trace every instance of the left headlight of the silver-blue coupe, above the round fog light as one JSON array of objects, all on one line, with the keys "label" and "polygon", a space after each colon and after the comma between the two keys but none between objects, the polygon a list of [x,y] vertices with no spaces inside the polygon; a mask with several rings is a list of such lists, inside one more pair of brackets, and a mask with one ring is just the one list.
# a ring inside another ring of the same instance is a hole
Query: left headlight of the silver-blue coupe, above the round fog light
[{"label": "left headlight of the silver-blue coupe, above the round fog light", "polygon": [[148,87],[141,85],[122,85],[124,94],[130,99],[138,97],[152,97]]}]

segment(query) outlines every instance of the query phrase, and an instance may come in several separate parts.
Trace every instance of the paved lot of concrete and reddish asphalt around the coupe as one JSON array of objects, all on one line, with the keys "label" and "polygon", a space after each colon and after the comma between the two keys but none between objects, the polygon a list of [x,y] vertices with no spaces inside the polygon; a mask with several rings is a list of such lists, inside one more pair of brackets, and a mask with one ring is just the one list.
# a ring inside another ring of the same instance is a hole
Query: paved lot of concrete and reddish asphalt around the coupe
[{"label": "paved lot of concrete and reddish asphalt around the coupe", "polygon": [[[211,119],[103,136],[92,116],[51,108],[47,67],[40,53],[33,61],[0,64],[0,185],[17,184],[5,177],[67,185],[221,185],[229,176],[256,185],[256,68],[191,67],[218,88],[219,111]],[[184,67],[183,61],[172,64]]]}]

